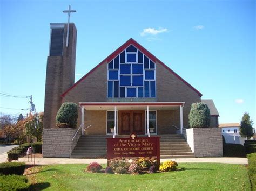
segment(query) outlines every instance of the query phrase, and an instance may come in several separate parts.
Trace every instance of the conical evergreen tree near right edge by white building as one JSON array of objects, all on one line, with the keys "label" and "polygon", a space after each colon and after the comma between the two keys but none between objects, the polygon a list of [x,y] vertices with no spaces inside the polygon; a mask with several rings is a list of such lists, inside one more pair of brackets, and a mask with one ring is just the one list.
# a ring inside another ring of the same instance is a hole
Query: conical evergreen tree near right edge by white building
[{"label": "conical evergreen tree near right edge by white building", "polygon": [[250,115],[245,112],[239,126],[239,134],[241,137],[245,137],[248,140],[253,136],[252,125],[253,121],[251,120]]}]

